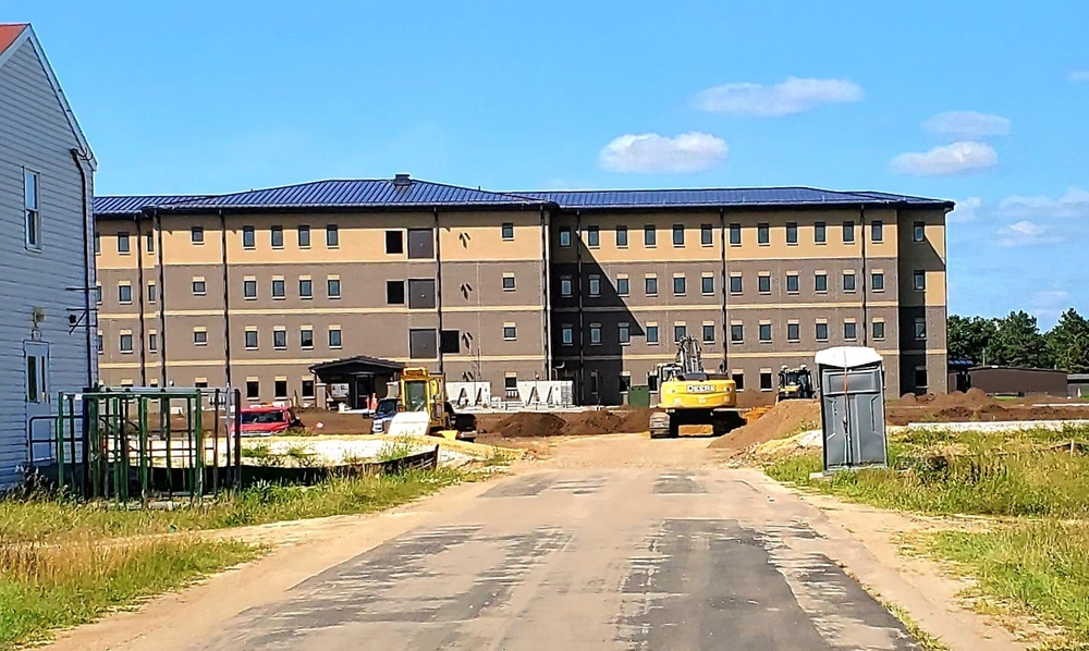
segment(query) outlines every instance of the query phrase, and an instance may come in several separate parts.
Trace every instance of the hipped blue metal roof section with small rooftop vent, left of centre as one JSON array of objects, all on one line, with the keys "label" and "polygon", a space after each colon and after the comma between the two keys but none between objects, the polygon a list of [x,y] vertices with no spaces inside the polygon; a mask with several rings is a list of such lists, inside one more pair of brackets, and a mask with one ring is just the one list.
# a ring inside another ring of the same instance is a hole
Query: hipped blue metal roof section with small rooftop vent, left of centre
[{"label": "hipped blue metal roof section with small rooftop vent, left of centre", "polygon": [[164,206],[167,210],[203,208],[395,208],[432,206],[541,206],[529,197],[491,193],[455,185],[408,180],[399,185],[389,179],[315,181],[301,185],[255,189],[205,197]]}]

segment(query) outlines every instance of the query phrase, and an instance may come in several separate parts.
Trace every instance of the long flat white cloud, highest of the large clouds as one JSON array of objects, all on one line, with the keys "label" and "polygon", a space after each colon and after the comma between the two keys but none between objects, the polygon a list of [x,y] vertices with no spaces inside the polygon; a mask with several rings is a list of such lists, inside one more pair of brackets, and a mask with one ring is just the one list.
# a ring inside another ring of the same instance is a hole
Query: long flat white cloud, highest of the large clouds
[{"label": "long flat white cloud, highest of the large clouds", "polygon": [[862,88],[846,79],[799,79],[781,84],[725,84],[696,94],[697,109],[739,115],[790,115],[821,105],[860,101]]}]

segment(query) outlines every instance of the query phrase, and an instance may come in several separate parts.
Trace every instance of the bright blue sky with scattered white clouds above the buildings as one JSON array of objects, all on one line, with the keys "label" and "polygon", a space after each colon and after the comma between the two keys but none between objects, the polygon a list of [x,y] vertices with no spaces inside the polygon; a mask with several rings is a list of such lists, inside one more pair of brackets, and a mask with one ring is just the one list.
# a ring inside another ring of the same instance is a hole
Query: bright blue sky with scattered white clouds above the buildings
[{"label": "bright blue sky with scattered white clouds above the buildings", "polygon": [[953,311],[1089,311],[1084,1],[0,1],[22,21],[99,194],[881,189],[958,202]]}]

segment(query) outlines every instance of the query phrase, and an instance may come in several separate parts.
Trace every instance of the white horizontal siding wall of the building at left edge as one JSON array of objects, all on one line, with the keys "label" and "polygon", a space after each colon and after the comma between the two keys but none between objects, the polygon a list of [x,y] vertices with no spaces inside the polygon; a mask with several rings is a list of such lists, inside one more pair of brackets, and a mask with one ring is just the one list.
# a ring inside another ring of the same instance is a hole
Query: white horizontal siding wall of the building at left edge
[{"label": "white horizontal siding wall of the building at left edge", "polygon": [[[46,312],[41,340],[50,344],[50,392],[83,389],[88,356],[97,372],[86,331],[70,334],[68,328],[68,308],[84,305],[82,293],[65,287],[86,282],[89,238],[82,211],[93,183],[88,168],[88,187],[81,187],[73,147],[78,140],[42,62],[24,41],[0,65],[0,487],[17,481],[16,467],[26,458],[23,342],[30,337],[35,306]],[[23,165],[39,174],[41,253],[24,247]]]}]

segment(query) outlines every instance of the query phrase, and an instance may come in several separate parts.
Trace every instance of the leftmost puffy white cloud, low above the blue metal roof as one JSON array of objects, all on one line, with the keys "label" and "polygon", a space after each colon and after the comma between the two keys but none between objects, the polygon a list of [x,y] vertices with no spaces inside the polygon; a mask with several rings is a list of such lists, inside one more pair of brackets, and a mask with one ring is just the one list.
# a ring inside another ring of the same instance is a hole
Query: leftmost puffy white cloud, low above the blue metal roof
[{"label": "leftmost puffy white cloud, low above the blue metal roof", "polygon": [[601,165],[615,172],[700,172],[726,158],[725,140],[689,132],[676,137],[625,134],[601,150]]}]

